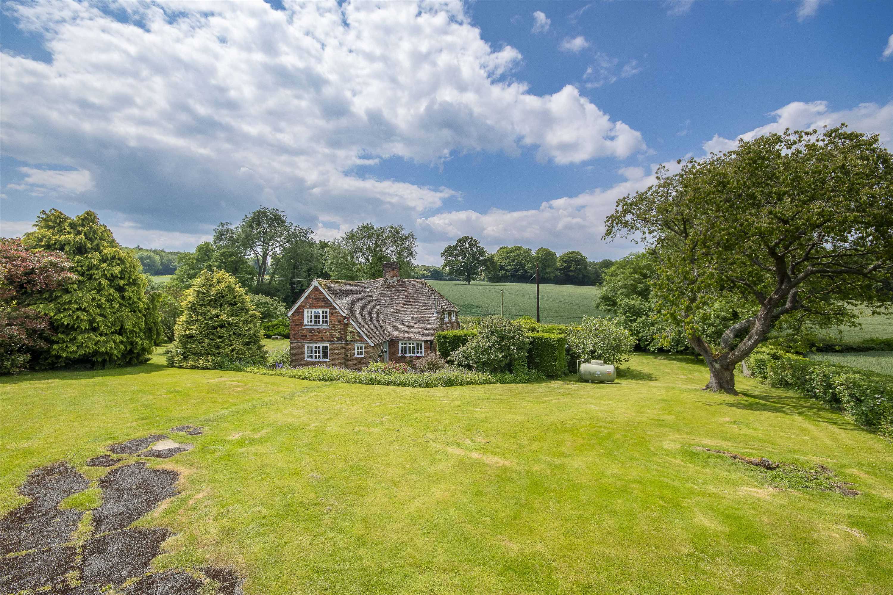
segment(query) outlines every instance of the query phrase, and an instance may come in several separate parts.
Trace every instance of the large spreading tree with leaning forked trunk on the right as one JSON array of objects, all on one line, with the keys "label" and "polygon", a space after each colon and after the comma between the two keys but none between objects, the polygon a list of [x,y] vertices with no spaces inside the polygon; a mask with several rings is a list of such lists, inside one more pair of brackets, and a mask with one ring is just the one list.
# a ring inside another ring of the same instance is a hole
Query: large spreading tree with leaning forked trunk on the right
[{"label": "large spreading tree with leaning forked trunk on the right", "polygon": [[[618,201],[605,236],[630,234],[654,247],[656,308],[704,357],[705,389],[735,394],[735,365],[772,330],[889,311],[893,157],[845,126],[741,141]],[[716,303],[739,314],[709,341]]]}]

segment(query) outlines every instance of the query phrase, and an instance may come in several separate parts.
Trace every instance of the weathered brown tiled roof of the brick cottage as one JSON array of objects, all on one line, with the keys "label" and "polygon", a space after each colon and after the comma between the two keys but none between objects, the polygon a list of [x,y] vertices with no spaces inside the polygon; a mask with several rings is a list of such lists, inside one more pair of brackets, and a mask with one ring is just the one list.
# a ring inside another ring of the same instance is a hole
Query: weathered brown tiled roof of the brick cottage
[{"label": "weathered brown tiled roof of the brick cottage", "polygon": [[442,312],[459,310],[421,279],[397,279],[393,284],[384,279],[316,282],[376,344],[386,339],[433,340]]}]

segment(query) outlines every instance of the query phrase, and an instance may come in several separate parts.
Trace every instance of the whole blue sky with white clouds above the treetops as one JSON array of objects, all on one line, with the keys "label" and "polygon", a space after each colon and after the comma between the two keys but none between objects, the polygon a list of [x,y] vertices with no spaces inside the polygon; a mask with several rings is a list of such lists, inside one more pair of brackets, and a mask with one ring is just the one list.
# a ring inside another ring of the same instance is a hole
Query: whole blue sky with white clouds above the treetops
[{"label": "whole blue sky with white clouds above the treetops", "polygon": [[659,163],[847,121],[893,143],[893,3],[4,3],[0,234],[188,249],[275,206],[616,258]]}]

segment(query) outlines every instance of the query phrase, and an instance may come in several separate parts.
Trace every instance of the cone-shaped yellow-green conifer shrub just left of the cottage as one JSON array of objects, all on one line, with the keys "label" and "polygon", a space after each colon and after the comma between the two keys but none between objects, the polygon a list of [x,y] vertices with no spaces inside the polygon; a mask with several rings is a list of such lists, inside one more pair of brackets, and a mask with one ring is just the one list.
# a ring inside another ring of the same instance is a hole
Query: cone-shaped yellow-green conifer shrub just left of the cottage
[{"label": "cone-shaped yellow-green conifer shrub just left of the cottage", "polygon": [[261,315],[236,277],[202,271],[186,293],[167,362],[174,368],[263,365]]}]

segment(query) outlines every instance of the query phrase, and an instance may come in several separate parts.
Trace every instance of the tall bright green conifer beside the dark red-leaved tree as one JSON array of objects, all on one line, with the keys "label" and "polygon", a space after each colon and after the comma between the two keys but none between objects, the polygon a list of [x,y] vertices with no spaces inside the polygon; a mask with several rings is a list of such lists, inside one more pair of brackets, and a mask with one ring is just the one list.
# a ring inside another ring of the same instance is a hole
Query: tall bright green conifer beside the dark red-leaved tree
[{"label": "tall bright green conifer beside the dark red-leaved tree", "polygon": [[35,227],[22,244],[63,252],[78,276],[34,306],[49,316],[55,332],[38,364],[106,368],[145,362],[154,334],[146,332],[151,305],[139,261],[93,211],[74,219],[55,209],[40,211]]}]

